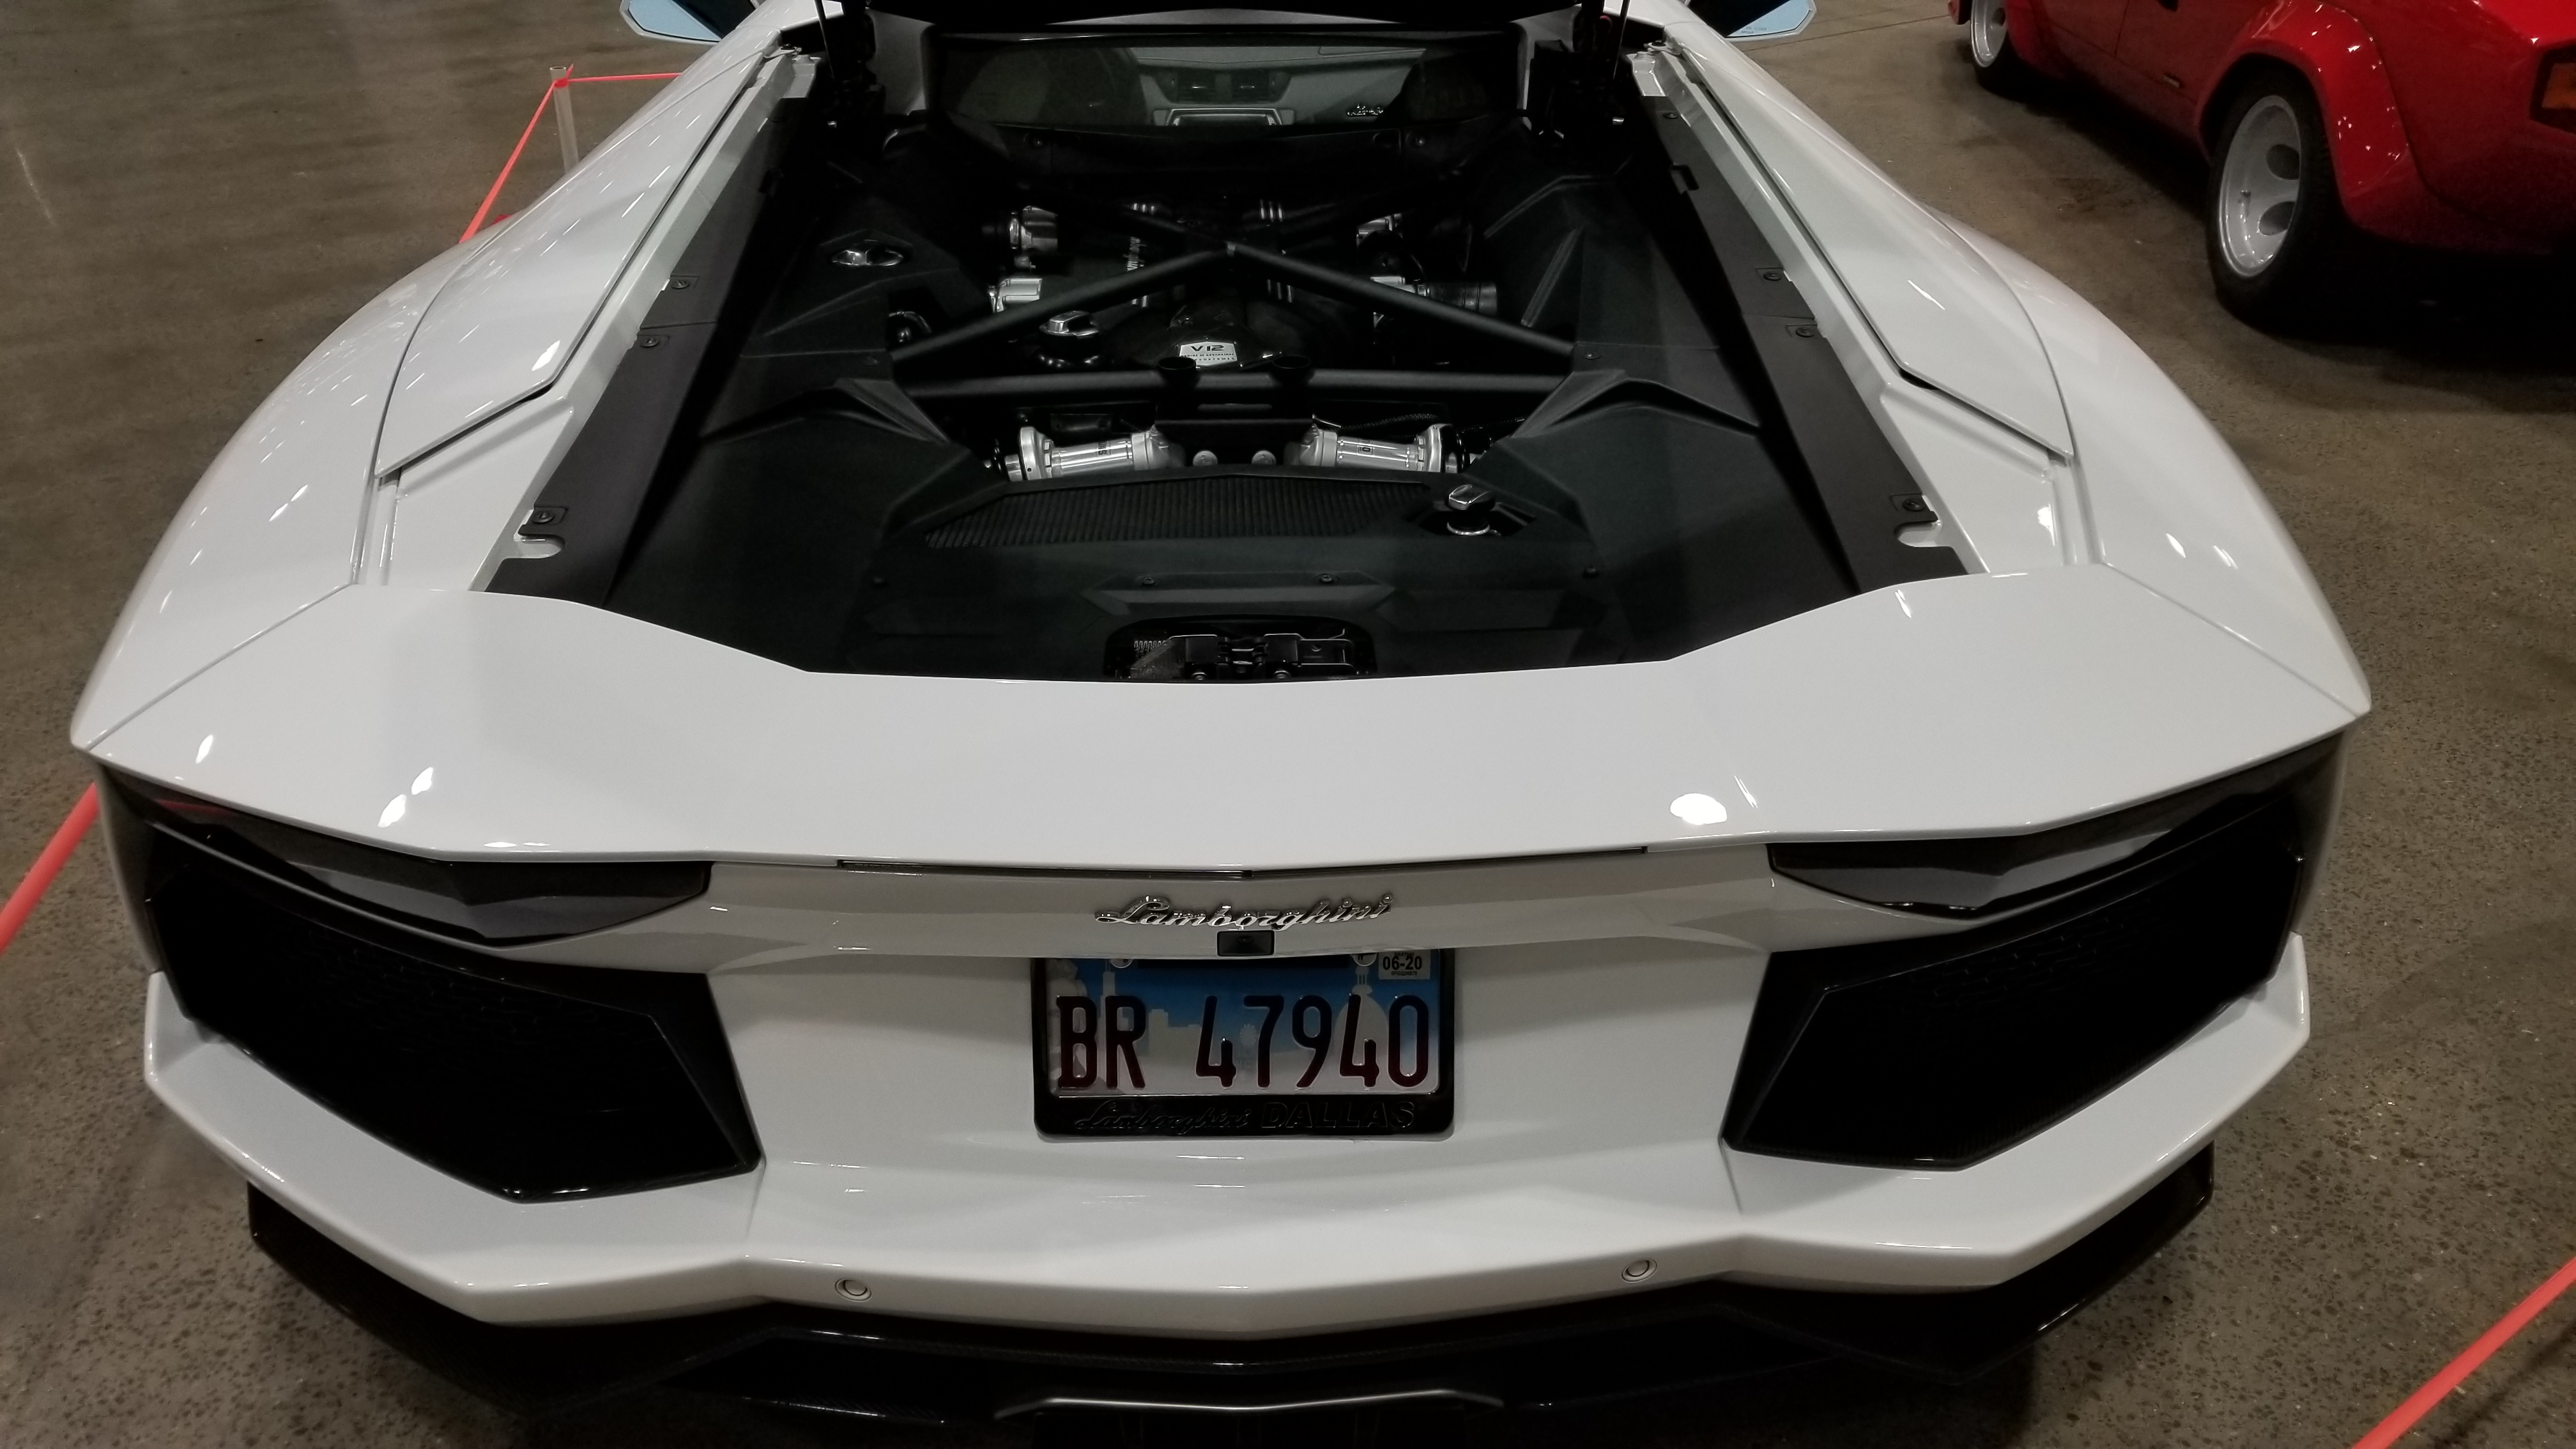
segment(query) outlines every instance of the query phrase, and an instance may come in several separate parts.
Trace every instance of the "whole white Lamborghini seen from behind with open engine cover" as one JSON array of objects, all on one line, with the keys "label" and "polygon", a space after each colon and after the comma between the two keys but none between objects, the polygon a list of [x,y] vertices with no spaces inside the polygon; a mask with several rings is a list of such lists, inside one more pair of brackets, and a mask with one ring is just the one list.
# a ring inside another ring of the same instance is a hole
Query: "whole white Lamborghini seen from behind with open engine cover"
[{"label": "whole white Lamborghini seen from behind with open engine cover", "polygon": [[778,3],[361,312],[75,719],[155,1091],[515,1405],[1971,1377],[2308,1031],[2367,691],[1667,0]]}]

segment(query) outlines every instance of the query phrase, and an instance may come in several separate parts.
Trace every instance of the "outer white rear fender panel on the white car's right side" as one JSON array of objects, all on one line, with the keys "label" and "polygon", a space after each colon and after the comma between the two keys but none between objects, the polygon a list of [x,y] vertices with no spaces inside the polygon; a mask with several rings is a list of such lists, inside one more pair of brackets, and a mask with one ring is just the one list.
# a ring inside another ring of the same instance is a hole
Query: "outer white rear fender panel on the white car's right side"
[{"label": "outer white rear fender panel on the white car's right side", "polygon": [[2030,307],[2076,428],[2102,562],[2272,655],[2354,714],[2370,683],[2298,544],[2218,428],[2063,281],[1965,224]]}]

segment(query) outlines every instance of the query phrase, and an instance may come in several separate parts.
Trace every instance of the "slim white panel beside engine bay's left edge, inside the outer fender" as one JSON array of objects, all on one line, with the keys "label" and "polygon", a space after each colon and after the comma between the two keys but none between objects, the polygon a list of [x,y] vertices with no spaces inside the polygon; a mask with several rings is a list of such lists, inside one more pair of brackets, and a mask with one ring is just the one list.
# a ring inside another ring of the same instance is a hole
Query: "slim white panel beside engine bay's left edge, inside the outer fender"
[{"label": "slim white panel beside engine bay's left edge, inside the outer fender", "polygon": [[760,72],[762,49],[737,34],[706,52],[456,271],[402,358],[376,472],[554,384],[680,178]]}]

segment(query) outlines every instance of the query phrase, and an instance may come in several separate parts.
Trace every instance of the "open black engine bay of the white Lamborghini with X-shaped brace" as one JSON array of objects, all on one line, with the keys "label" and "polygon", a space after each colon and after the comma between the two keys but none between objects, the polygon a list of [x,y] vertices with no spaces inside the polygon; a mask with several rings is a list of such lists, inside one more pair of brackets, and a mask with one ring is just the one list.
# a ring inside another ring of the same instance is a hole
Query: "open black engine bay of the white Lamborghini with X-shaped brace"
[{"label": "open black engine bay of the white Lamborghini with X-shaped brace", "polygon": [[567,557],[495,588],[1213,683],[1669,657],[1958,572],[1886,547],[1891,454],[1819,490],[1623,44],[933,31],[907,116],[824,62],[549,482]]}]

